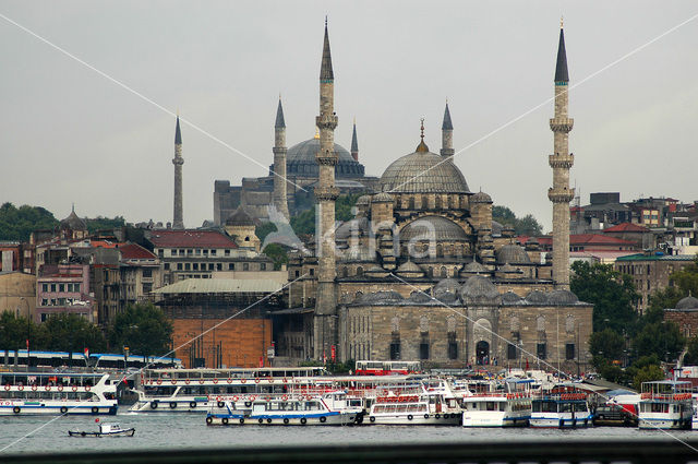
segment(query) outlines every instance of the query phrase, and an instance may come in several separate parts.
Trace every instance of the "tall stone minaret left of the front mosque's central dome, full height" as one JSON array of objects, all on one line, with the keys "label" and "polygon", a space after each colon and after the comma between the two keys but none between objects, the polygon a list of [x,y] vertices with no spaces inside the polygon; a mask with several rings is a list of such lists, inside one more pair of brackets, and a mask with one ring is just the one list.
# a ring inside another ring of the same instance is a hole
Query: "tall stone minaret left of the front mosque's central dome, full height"
[{"label": "tall stone minaret left of the front mosque's central dome, full height", "polygon": [[337,344],[337,298],[335,289],[335,200],[339,190],[335,187],[335,116],[334,73],[329,53],[329,36],[325,20],[323,60],[320,69],[320,116],[315,126],[320,130],[320,151],[315,155],[320,168],[318,186],[315,188],[316,219],[315,253],[317,255],[317,295],[315,299],[315,358],[330,356],[332,346]]}]

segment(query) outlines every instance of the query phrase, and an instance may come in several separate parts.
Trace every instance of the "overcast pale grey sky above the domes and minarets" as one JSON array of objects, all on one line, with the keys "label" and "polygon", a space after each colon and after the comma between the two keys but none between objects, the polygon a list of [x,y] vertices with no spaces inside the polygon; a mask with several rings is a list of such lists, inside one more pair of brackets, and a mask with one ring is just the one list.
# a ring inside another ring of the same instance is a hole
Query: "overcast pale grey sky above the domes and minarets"
[{"label": "overcast pale grey sky above the domes and minarets", "polygon": [[[456,151],[553,95],[565,16],[570,84],[698,14],[694,1],[0,1],[0,14],[267,166],[279,93],[288,145],[310,139],[329,16],[337,143],[357,118],[380,176],[414,151],[425,118]],[[623,201],[696,194],[698,19],[570,92],[571,179]],[[174,118],[0,19],[0,202],[58,218],[171,221]],[[550,228],[549,103],[459,154],[472,191]],[[216,179],[266,174],[183,124],[184,223],[213,217]]]}]

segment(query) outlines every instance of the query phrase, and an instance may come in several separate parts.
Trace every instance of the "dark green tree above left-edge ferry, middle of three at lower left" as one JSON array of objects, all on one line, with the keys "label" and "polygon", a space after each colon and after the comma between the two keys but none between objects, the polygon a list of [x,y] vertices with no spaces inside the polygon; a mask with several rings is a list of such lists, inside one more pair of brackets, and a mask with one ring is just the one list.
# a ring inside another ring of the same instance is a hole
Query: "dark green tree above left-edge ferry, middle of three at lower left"
[{"label": "dark green tree above left-edge ferry, middle of three at lower left", "polygon": [[[101,330],[79,314],[51,316],[40,325],[46,337],[45,348],[57,352],[104,352],[107,341]],[[40,334],[40,332],[39,332]]]}]

